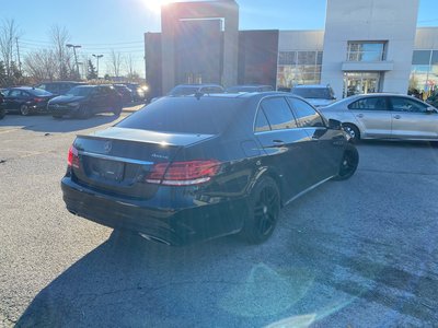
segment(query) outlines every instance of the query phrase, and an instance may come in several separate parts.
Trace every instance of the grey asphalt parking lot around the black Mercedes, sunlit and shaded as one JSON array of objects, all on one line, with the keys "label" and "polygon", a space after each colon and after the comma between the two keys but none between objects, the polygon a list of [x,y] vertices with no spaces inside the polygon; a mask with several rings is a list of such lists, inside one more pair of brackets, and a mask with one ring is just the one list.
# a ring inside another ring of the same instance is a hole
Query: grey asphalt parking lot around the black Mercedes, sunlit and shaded
[{"label": "grey asphalt parking lot around the black Mercedes, sunlit and shaded", "polygon": [[0,121],[0,326],[437,325],[438,147],[362,142],[356,175],[283,209],[267,243],[174,248],[65,210],[74,136],[118,119]]}]

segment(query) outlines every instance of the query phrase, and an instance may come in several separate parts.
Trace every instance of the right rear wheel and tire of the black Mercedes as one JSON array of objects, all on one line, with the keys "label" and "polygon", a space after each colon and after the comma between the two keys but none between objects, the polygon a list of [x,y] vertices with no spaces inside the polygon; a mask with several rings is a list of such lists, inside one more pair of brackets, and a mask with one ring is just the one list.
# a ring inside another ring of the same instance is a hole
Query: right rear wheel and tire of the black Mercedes
[{"label": "right rear wheel and tire of the black Mercedes", "polygon": [[262,177],[255,185],[247,208],[241,236],[250,244],[262,244],[273,234],[280,212],[280,192],[272,177]]}]

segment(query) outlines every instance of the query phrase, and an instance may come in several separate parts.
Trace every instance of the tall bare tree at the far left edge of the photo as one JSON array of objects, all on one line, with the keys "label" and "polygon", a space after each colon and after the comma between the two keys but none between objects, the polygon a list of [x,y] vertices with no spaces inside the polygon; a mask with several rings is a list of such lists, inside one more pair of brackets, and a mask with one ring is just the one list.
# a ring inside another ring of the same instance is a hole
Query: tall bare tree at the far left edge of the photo
[{"label": "tall bare tree at the far left edge of the photo", "polygon": [[0,25],[0,55],[3,61],[7,77],[10,79],[13,74],[13,57],[16,38],[19,37],[18,25],[14,20],[3,20]]}]

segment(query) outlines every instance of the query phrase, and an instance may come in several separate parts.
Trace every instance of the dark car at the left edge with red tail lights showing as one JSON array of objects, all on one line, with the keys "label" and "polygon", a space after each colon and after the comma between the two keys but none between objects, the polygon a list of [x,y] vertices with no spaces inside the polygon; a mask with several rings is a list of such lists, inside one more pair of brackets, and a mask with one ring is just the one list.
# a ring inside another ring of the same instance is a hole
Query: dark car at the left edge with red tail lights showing
[{"label": "dark car at the left edge with red tail lights showing", "polygon": [[4,95],[2,108],[7,112],[18,112],[21,115],[48,113],[47,102],[54,95],[42,89],[31,86],[11,87],[2,92]]}]

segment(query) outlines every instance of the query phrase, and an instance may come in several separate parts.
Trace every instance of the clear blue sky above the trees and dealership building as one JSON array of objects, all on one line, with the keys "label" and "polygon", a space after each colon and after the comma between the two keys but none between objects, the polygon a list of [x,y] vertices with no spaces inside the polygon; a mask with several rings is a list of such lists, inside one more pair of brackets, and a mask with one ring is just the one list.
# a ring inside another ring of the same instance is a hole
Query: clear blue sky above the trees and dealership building
[{"label": "clear blue sky above the trees and dealership building", "polygon": [[[111,49],[131,54],[142,74],[142,34],[160,31],[160,15],[151,10],[154,3],[153,0],[0,0],[0,19],[13,19],[19,24],[24,55],[47,46],[48,30],[57,24],[69,31],[71,43],[82,45],[82,55],[106,55]],[[241,30],[324,28],[326,0],[238,0],[238,3]],[[438,0],[420,0],[418,26],[438,26]]]}]

